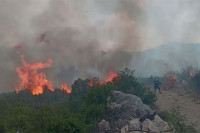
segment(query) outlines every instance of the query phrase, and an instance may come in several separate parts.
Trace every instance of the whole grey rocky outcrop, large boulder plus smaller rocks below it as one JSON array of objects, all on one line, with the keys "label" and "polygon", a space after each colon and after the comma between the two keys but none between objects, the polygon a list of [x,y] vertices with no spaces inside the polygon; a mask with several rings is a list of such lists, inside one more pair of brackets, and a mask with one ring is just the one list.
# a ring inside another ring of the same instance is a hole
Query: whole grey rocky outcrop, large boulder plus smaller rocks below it
[{"label": "whole grey rocky outcrop, large boulder plus smaller rocks below it", "polygon": [[167,122],[148,105],[131,94],[113,91],[114,100],[108,101],[108,114],[98,126],[98,133],[170,133]]}]

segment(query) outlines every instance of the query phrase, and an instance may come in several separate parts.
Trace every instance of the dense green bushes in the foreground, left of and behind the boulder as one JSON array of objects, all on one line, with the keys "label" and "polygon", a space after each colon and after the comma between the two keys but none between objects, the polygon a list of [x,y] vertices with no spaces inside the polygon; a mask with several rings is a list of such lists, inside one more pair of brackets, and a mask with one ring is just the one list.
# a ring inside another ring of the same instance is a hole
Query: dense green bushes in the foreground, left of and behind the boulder
[{"label": "dense green bushes in the foreground, left of and behind the boulder", "polygon": [[[70,95],[57,89],[54,93],[32,96],[24,91],[0,95],[1,133],[88,133],[95,129],[107,112],[112,90],[139,96],[154,106],[156,96],[142,86],[134,71],[126,68],[118,79],[106,85],[88,86],[89,80],[78,79]],[[116,81],[117,80],[117,81]],[[98,81],[97,81],[98,82]]]}]

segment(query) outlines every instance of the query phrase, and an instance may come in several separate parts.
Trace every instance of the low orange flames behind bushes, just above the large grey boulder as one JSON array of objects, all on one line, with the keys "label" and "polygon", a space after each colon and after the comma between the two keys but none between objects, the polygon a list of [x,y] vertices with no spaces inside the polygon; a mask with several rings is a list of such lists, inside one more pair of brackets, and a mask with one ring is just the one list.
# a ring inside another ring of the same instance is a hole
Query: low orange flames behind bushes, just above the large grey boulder
[{"label": "low orange flames behind bushes, just above the large grey boulder", "polygon": [[112,70],[109,71],[108,77],[105,81],[99,81],[99,78],[93,78],[88,82],[89,86],[101,86],[107,85],[107,83],[113,83],[113,79],[119,80],[119,75]]}]

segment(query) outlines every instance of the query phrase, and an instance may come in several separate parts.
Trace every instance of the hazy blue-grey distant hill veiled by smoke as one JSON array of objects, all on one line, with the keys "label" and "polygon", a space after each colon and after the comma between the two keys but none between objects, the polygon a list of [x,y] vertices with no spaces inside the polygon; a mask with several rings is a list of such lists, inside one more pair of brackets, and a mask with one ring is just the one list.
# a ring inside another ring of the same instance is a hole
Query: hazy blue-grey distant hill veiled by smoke
[{"label": "hazy blue-grey distant hill veiled by smoke", "polygon": [[137,76],[163,75],[200,66],[200,44],[165,44],[143,52],[133,53],[131,67]]}]

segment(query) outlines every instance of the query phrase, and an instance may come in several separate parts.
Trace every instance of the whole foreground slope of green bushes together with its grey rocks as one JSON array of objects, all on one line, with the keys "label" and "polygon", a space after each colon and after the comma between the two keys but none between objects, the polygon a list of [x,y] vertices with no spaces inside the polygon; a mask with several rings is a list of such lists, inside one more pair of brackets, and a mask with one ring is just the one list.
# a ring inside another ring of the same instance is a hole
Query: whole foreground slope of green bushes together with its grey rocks
[{"label": "whole foreground slope of green bushes together with its grey rocks", "polygon": [[157,111],[156,101],[155,93],[126,68],[105,83],[78,79],[70,94],[61,89],[40,95],[30,90],[0,94],[0,132],[196,133],[182,116],[175,115],[177,125],[169,119],[174,112]]}]

